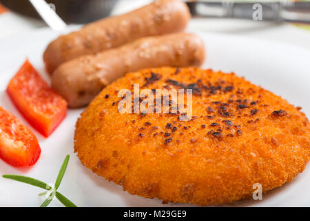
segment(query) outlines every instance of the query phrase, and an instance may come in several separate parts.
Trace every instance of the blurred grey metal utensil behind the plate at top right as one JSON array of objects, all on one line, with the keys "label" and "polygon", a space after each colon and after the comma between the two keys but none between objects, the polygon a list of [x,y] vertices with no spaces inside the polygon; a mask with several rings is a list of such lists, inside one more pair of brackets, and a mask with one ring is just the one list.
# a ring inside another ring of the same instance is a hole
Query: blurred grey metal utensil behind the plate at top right
[{"label": "blurred grey metal utensil behind the plate at top right", "polygon": [[262,21],[310,23],[310,2],[187,2],[194,17],[240,19],[253,19],[254,4],[259,4],[262,7]]}]

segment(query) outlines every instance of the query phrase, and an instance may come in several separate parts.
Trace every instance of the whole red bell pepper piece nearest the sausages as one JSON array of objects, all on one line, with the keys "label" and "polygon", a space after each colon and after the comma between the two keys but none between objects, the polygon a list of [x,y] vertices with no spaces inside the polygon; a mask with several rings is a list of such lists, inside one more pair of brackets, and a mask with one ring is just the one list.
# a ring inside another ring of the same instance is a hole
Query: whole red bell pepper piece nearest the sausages
[{"label": "whole red bell pepper piece nearest the sausages", "polygon": [[7,93],[19,112],[48,137],[67,114],[67,102],[41,78],[28,60],[8,84]]}]

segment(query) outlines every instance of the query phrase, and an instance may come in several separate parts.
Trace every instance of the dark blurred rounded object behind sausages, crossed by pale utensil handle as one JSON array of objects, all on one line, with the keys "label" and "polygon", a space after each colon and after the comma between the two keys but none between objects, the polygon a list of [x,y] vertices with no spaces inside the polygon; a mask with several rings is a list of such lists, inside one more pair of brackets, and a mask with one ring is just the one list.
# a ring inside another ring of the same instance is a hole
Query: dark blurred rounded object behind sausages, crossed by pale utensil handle
[{"label": "dark blurred rounded object behind sausages, crossed by pale utensil handle", "polygon": [[[36,0],[34,0],[36,1]],[[110,15],[117,0],[46,0],[54,4],[65,23],[90,23]],[[28,0],[0,0],[0,3],[21,15],[40,19]]]}]

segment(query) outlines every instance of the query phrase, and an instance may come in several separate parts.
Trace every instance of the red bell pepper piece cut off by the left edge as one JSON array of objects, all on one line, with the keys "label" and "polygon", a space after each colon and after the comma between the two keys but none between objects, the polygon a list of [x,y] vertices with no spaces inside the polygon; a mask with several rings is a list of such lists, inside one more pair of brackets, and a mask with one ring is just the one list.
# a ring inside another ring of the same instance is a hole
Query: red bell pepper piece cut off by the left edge
[{"label": "red bell pepper piece cut off by the left edge", "polygon": [[0,158],[12,166],[32,166],[40,154],[37,137],[0,106]]}]

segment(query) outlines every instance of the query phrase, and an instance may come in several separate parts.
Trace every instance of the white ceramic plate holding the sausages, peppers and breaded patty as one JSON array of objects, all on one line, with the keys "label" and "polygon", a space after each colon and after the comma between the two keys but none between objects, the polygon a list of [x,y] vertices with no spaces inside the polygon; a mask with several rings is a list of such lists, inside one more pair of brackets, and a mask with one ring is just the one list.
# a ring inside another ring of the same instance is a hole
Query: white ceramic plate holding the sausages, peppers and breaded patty
[{"label": "white ceramic plate holding the sausages, peppers and breaded patty", "polygon": [[[310,52],[267,41],[196,33],[204,39],[207,48],[204,68],[234,71],[254,84],[282,95],[291,104],[302,106],[304,113],[310,116]],[[59,33],[43,29],[0,42],[0,106],[23,122],[25,120],[5,93],[6,86],[26,57],[49,81],[42,54],[45,46],[57,35]],[[70,154],[68,170],[59,191],[78,206],[192,206],[163,205],[161,200],[130,195],[121,186],[107,182],[82,166],[73,153],[74,125],[81,111],[68,111],[68,117],[48,139],[33,130],[42,150],[37,164],[28,169],[15,169],[0,160],[0,175],[28,175],[53,183],[65,155]],[[27,122],[25,124],[30,126]],[[0,177],[0,206],[39,206],[43,202],[43,198],[38,197],[41,192],[37,187]],[[61,204],[54,200],[51,206]],[[227,206],[310,206],[310,165],[293,182],[263,195],[262,200],[241,200]]]}]

